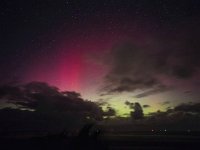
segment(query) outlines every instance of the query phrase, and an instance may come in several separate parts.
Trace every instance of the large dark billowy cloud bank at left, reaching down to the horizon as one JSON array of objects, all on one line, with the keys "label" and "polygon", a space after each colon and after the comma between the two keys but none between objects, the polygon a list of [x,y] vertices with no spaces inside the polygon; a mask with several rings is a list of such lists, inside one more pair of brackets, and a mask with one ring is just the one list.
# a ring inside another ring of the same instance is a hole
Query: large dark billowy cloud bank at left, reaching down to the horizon
[{"label": "large dark billowy cloud bank at left, reaching down to the horizon", "polygon": [[87,121],[101,120],[103,115],[115,114],[112,108],[103,114],[97,104],[83,100],[79,93],[61,92],[58,88],[41,82],[1,86],[0,93],[1,101],[6,99],[7,103],[16,106],[16,109],[0,110],[2,129],[6,126],[10,129],[14,124],[16,129],[22,130],[37,129],[40,125],[43,130],[62,130]]}]

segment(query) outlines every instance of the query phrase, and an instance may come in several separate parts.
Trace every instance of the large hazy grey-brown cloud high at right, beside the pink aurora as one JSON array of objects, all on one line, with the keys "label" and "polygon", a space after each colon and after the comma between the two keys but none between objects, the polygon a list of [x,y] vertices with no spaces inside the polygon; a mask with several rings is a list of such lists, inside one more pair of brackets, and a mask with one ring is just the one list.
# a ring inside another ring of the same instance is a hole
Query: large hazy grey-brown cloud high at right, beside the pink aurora
[{"label": "large hazy grey-brown cloud high at right, beside the pink aurora", "polygon": [[179,82],[196,84],[193,77],[198,78],[200,70],[200,32],[193,28],[156,35],[143,46],[134,42],[115,45],[108,55],[110,71],[105,76],[104,91],[110,94],[142,90],[136,95],[141,98],[170,90]]}]

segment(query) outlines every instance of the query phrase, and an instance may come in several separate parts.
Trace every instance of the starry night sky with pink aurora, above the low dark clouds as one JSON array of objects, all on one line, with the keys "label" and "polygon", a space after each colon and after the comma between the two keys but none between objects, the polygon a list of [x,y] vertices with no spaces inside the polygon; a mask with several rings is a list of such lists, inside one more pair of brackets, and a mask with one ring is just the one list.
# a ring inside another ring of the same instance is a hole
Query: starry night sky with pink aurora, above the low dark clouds
[{"label": "starry night sky with pink aurora, above the low dark clouds", "polygon": [[144,112],[199,102],[199,0],[1,0],[0,83]]}]

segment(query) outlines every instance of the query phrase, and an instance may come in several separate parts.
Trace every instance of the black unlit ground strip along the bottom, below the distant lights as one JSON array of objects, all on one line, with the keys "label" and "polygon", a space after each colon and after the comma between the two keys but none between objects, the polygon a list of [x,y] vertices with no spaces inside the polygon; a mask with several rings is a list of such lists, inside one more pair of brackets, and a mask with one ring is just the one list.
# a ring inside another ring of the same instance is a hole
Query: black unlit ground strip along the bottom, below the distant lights
[{"label": "black unlit ground strip along the bottom, below the distant lights", "polygon": [[198,150],[199,134],[104,134],[98,137],[60,135],[1,138],[1,150]]}]

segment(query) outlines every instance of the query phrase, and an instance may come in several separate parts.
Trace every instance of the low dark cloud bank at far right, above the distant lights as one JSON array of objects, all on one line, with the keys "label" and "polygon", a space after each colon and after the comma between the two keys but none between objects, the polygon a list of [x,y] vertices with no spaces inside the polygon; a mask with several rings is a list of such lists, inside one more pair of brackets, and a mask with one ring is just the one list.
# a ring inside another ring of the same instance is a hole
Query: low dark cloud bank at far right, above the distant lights
[{"label": "low dark cloud bank at far right, above the distant lights", "polygon": [[169,108],[165,112],[157,111],[149,114],[145,124],[153,128],[171,130],[199,130],[200,126],[200,103],[185,103]]}]

